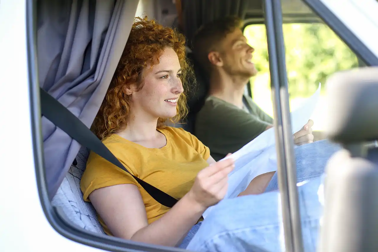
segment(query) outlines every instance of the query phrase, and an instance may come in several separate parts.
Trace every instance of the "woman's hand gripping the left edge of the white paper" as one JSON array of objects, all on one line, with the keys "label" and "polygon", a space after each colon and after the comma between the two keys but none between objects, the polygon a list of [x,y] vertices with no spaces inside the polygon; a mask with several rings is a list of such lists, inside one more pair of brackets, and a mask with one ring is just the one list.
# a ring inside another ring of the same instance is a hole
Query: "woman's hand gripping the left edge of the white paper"
[{"label": "woman's hand gripping the left edge of the white paper", "polygon": [[228,174],[234,169],[234,160],[225,159],[201,170],[187,196],[203,210],[224,198],[228,188]]}]

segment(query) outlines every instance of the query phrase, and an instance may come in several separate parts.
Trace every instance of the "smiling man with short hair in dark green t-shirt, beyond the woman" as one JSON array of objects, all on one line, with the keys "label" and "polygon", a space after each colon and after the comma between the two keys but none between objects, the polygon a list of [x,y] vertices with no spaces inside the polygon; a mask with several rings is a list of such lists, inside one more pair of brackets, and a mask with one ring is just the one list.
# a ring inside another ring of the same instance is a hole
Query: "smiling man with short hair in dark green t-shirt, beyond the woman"
[{"label": "smiling man with short hair in dark green t-shirt, beyond the woman", "polygon": [[[247,44],[242,21],[226,17],[201,27],[193,40],[193,53],[209,76],[209,94],[197,114],[195,135],[211,150],[216,161],[239,150],[263,131],[273,119],[249,96],[249,78],[257,74],[254,48]],[[313,141],[313,121],[294,134],[294,143]]]}]

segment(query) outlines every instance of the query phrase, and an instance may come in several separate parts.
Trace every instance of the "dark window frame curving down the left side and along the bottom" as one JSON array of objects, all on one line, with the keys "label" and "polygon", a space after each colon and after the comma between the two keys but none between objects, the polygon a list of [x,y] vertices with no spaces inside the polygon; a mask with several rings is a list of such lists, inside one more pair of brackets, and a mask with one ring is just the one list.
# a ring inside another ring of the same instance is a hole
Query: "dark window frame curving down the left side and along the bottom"
[{"label": "dark window frame curving down the left side and along the bottom", "polygon": [[[305,2],[309,2],[309,1],[306,0]],[[314,1],[314,2],[320,3],[320,1]],[[81,229],[71,224],[70,221],[68,221],[64,217],[64,215],[60,213],[61,211],[60,209],[57,209],[56,207],[53,207],[51,205],[51,202],[48,198],[47,191],[46,191],[45,174],[44,174],[44,168],[43,168],[44,167],[43,148],[42,148],[43,145],[42,145],[42,134],[41,134],[42,124],[41,124],[41,118],[40,118],[39,83],[38,83],[38,76],[37,76],[37,60],[36,60],[36,52],[37,52],[37,49],[36,49],[37,48],[37,44],[36,44],[36,34],[37,34],[37,31],[36,31],[36,22],[37,22],[36,9],[37,8],[36,7],[37,6],[36,5],[37,5],[37,1],[26,1],[26,8],[27,8],[26,19],[28,20],[28,22],[26,23],[26,26],[27,26],[27,30],[26,30],[27,42],[26,43],[27,43],[28,66],[29,66],[29,72],[28,72],[29,89],[31,91],[29,98],[30,98],[30,113],[32,116],[31,135],[33,139],[34,165],[35,165],[35,170],[36,170],[38,193],[39,193],[41,205],[43,208],[43,212],[45,213],[46,219],[51,224],[51,226],[63,237],[68,238],[72,241],[76,241],[77,243],[88,245],[92,248],[108,250],[108,251],[119,251],[119,252],[136,251],[136,250],[146,251],[146,252],[147,251],[153,251],[153,252],[186,251],[179,248],[156,246],[156,245],[145,244],[145,243],[137,243],[137,242],[133,242],[129,240],[124,240],[121,238],[104,236],[104,235],[99,235],[99,234],[97,235],[96,233],[88,232],[84,229]],[[328,9],[327,11],[330,12]],[[321,17],[321,15],[319,16]],[[323,19],[327,20],[327,18],[330,18],[330,17],[332,17],[331,12],[327,13],[325,17],[323,17]],[[339,23],[337,22],[339,20],[337,20],[336,17],[333,17],[333,19],[334,19],[332,22],[333,26],[338,27],[342,25],[340,24],[341,22]],[[327,23],[325,20],[324,22]],[[250,23],[247,23],[246,25],[249,25],[249,24]],[[348,31],[349,30],[347,30],[347,28],[344,26],[343,30],[341,31],[342,36],[340,36],[339,34],[338,35],[342,38],[346,36],[347,39],[350,39],[351,36],[350,34],[348,34]],[[350,46],[350,48],[351,49],[355,48],[355,46],[359,46],[359,48],[361,48],[363,44],[360,41],[355,41],[355,40],[352,40],[351,42],[349,42],[352,45]],[[363,59],[364,62],[367,62],[367,63],[375,62],[376,65],[378,65],[378,59],[376,58],[371,59],[371,57],[368,57],[369,50],[366,51],[366,49],[367,48],[365,47],[364,52],[361,54],[361,59]],[[250,87],[250,83],[248,85]],[[251,89],[249,88],[249,90]]]}]

